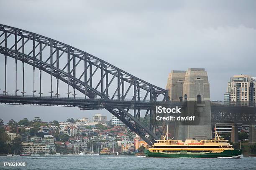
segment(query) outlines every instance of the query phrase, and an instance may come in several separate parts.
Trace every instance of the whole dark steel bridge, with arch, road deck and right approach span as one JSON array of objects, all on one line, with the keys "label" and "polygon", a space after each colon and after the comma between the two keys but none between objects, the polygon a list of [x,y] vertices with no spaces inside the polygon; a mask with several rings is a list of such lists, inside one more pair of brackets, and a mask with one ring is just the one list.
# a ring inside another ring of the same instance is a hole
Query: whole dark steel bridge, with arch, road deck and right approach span
[{"label": "whole dark steel bridge, with arch, road deck and right approach span", "polygon": [[[106,109],[149,145],[158,140],[159,134],[165,129],[165,126],[159,128],[156,122],[154,106],[183,105],[169,102],[168,90],[135,77],[87,52],[26,30],[0,24],[0,54],[4,57],[5,65],[0,104],[73,106],[80,110]],[[9,64],[10,60],[14,60],[12,65]],[[21,69],[18,69],[17,63],[21,65]],[[11,75],[7,72],[10,67],[13,70]],[[29,72],[32,85],[29,88],[26,87],[26,68],[32,68]],[[9,76],[15,77],[11,82],[14,89],[10,89],[7,83]],[[48,76],[47,83],[44,76]],[[21,85],[17,85],[18,80]],[[49,91],[42,90],[45,89],[44,86],[48,86]],[[65,91],[64,94],[61,94],[60,89]],[[15,94],[8,95],[8,90]],[[31,95],[27,95],[28,93]],[[235,112],[236,106],[212,105],[212,120],[255,123],[256,112],[251,108],[243,106],[243,110],[248,112],[241,114]],[[147,119],[150,120],[148,124],[145,123]],[[156,132],[159,134],[156,135]]]}]

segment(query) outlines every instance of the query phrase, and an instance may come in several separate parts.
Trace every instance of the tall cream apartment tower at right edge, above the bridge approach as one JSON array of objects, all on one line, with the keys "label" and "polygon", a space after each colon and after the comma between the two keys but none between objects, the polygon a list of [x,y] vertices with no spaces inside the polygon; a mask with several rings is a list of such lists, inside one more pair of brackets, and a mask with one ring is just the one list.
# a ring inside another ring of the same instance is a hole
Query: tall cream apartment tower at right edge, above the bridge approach
[{"label": "tall cream apartment tower at right edge, above the bridge approach", "polygon": [[230,77],[225,102],[256,103],[255,99],[256,77],[250,75],[234,75]]}]

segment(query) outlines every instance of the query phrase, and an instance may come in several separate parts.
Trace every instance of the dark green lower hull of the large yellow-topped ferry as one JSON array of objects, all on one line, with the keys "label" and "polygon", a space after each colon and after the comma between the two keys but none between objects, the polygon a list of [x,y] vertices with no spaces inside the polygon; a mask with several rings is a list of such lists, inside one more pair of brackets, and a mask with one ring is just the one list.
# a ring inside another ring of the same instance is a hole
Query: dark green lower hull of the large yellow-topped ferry
[{"label": "dark green lower hull of the large yellow-topped ferry", "polygon": [[242,154],[242,150],[224,150],[221,153],[152,153],[145,150],[147,157],[157,158],[220,158],[233,157]]}]

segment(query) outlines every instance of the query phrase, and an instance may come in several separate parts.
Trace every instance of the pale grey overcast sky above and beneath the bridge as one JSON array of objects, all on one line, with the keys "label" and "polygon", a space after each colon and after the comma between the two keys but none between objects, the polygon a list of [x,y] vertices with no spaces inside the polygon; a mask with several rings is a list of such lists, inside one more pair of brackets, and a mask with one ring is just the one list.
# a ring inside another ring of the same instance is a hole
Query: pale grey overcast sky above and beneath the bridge
[{"label": "pale grey overcast sky above and beneath the bridge", "polygon": [[[223,100],[231,76],[256,76],[255,16],[254,0],[0,0],[1,24],[72,45],[162,88],[171,70],[205,68],[211,100]],[[3,93],[4,72],[0,81]],[[110,119],[106,110],[0,105],[5,123],[97,112]]]}]

